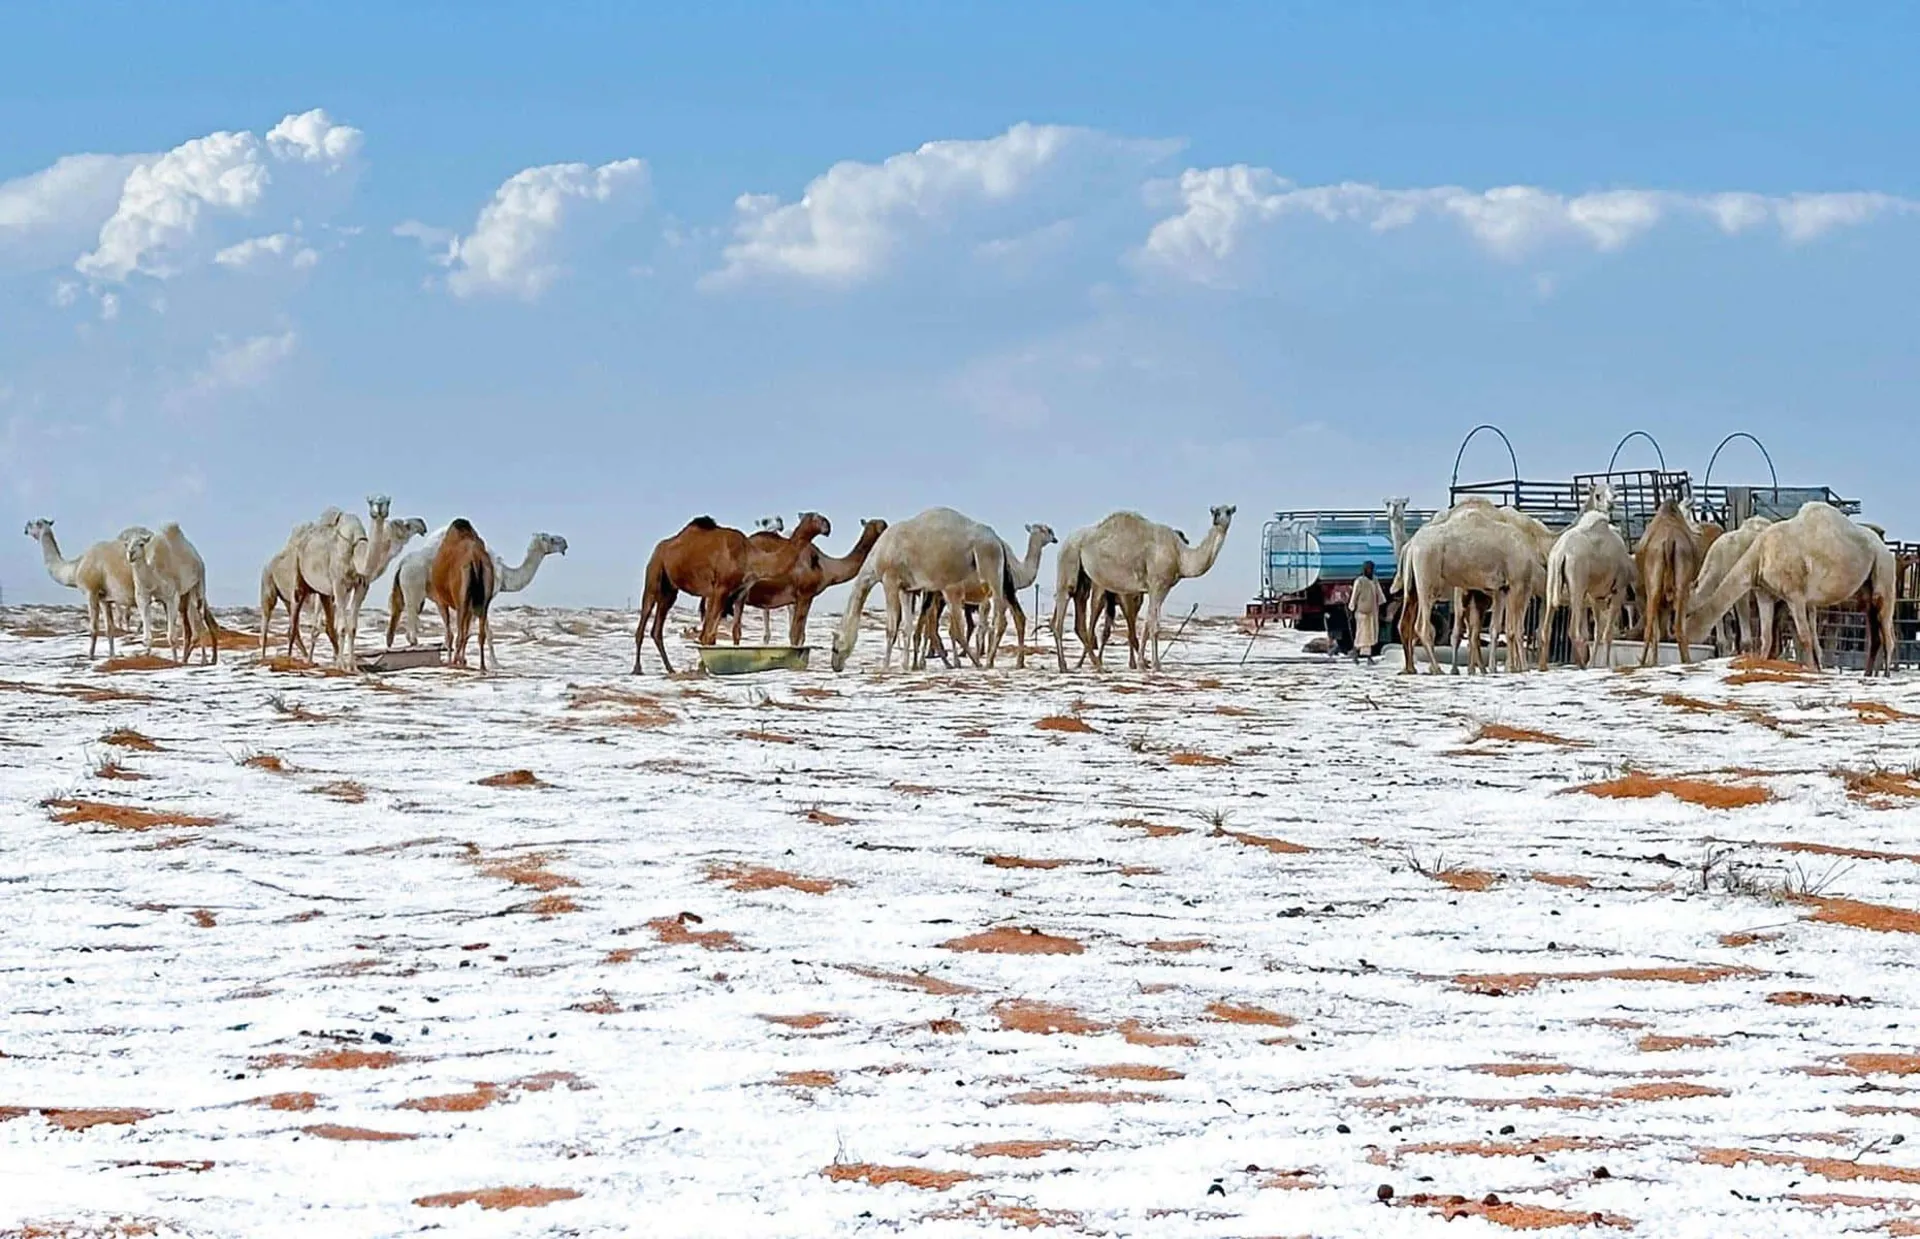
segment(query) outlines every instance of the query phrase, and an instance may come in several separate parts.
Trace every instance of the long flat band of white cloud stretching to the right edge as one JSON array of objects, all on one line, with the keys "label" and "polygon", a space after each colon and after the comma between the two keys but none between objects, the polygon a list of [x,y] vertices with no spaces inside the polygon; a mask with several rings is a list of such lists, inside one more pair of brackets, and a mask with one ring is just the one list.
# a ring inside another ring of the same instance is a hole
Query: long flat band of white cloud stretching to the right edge
[{"label": "long flat band of white cloud stretching to the right edge", "polygon": [[1557,194],[1528,184],[1490,190],[1452,184],[1390,190],[1357,182],[1300,186],[1271,169],[1244,163],[1181,173],[1173,200],[1179,211],[1154,225],[1140,255],[1200,280],[1217,279],[1248,232],[1288,217],[1357,223],[1377,232],[1444,219],[1465,229],[1490,254],[1517,259],[1553,244],[1619,250],[1663,221],[1682,217],[1705,219],[1726,234],[1774,227],[1788,242],[1807,242],[1882,215],[1920,211],[1920,202],[1891,194]]}]

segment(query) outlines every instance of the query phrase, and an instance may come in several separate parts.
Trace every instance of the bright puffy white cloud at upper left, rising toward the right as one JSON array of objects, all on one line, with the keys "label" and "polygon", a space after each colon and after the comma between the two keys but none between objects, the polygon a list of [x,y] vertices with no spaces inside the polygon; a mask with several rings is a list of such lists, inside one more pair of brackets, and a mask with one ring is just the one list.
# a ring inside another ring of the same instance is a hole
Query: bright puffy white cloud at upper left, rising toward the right
[{"label": "bright puffy white cloud at upper left, rising toward the right", "polygon": [[351,184],[359,148],[361,131],[321,109],[288,115],[265,140],[223,131],[182,142],[132,167],[98,246],[75,269],[108,282],[179,275],[230,221],[324,207]]}]

